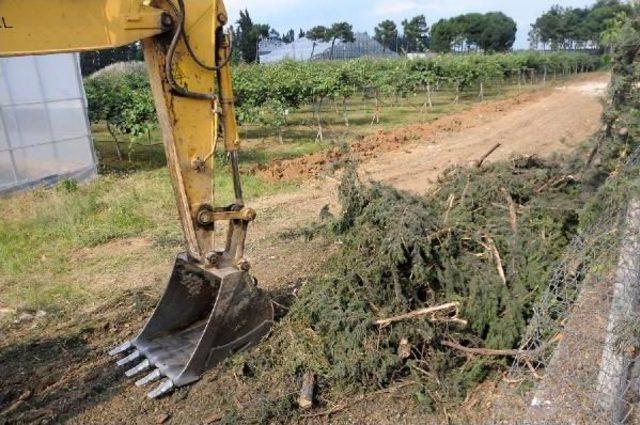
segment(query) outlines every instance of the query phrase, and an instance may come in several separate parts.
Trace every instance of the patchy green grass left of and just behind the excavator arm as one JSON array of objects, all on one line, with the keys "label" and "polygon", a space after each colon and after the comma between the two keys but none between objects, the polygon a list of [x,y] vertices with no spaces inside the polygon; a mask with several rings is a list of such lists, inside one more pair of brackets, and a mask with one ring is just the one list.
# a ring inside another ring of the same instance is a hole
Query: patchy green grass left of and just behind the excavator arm
[{"label": "patchy green grass left of and just behind the excavator arm", "polygon": [[[244,184],[249,199],[292,187],[254,176],[247,176]],[[222,173],[217,189],[225,195],[219,204],[232,201],[231,185],[228,173]],[[102,175],[86,185],[63,182],[52,189],[0,200],[0,304],[25,310],[73,308],[91,295],[82,270],[95,268],[91,261],[73,258],[83,250],[130,238],[151,241],[149,250],[166,258],[181,245],[177,210],[164,169]],[[102,270],[93,271],[103,271],[110,261],[117,274],[136,260],[127,258],[125,250],[99,259]]]}]

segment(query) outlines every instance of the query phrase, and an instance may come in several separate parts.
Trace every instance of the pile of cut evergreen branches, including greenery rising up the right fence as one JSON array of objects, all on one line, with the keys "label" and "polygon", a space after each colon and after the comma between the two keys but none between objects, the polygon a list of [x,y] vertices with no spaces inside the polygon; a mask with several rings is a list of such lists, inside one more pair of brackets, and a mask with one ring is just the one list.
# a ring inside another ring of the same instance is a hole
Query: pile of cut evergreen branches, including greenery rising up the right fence
[{"label": "pile of cut evergreen branches, including greenery rising up the right fence", "polygon": [[241,360],[250,379],[288,396],[267,395],[257,416],[241,416],[295,415],[303,375],[315,376],[321,404],[411,381],[437,406],[514,355],[526,359],[518,348],[553,267],[597,215],[594,199],[606,200],[598,188],[637,147],[638,27],[629,23],[616,49],[603,130],[572,158],[450,169],[424,197],[347,172],[341,216],[325,229],[339,246],[326,274]]}]

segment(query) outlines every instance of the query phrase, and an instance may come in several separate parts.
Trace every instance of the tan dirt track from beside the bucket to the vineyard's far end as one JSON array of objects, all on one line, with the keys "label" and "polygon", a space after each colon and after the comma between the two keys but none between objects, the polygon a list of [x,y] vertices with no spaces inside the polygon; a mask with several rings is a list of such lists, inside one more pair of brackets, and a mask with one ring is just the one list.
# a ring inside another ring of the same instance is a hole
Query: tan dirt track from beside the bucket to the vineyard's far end
[{"label": "tan dirt track from beside the bucket to the vineyard's far end", "polygon": [[[433,123],[378,132],[354,149],[364,158],[360,173],[365,180],[423,193],[446,168],[471,163],[496,143],[501,147],[488,161],[569,152],[599,127],[600,100],[608,81],[608,74],[592,74],[565,86],[478,104]],[[281,163],[278,170],[315,171],[322,162],[316,155]],[[336,195],[337,181],[329,177],[311,179],[296,192],[254,203],[260,215],[250,236],[249,255],[263,284],[281,286],[309,274],[314,264],[309,261],[310,249],[327,247],[276,235],[313,222],[325,205],[336,211]]]}]

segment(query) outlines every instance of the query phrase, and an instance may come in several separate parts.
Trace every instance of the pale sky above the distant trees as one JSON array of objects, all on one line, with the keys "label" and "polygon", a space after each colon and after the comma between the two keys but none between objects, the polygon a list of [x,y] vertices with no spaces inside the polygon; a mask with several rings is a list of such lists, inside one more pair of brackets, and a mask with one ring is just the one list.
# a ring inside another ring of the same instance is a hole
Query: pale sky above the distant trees
[{"label": "pale sky above the distant trees", "polygon": [[265,23],[280,32],[308,29],[348,21],[357,31],[373,33],[376,24],[424,14],[432,25],[440,18],[469,12],[501,11],[518,23],[517,48],[527,47],[531,24],[554,4],[587,6],[595,0],[225,0],[231,21],[247,8],[254,22]]}]

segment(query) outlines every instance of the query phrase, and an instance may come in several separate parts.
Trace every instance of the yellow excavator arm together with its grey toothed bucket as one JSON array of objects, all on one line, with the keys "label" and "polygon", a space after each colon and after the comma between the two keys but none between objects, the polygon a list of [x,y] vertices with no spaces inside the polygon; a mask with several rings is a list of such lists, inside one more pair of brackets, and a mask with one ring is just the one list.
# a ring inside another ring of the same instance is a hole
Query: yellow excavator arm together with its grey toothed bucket
[{"label": "yellow excavator arm together with its grey toothed bucket", "polygon": [[[231,84],[231,36],[221,0],[0,0],[0,57],[114,48],[141,41],[186,240],[153,316],[111,351],[158,397],[264,338],[271,301],[245,259],[255,212],[244,204]],[[222,134],[235,202],[215,204],[214,153]],[[218,244],[218,223],[227,235]],[[153,267],[153,265],[151,265]]]}]

